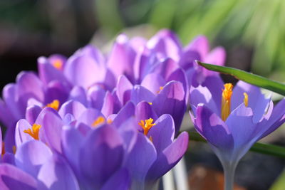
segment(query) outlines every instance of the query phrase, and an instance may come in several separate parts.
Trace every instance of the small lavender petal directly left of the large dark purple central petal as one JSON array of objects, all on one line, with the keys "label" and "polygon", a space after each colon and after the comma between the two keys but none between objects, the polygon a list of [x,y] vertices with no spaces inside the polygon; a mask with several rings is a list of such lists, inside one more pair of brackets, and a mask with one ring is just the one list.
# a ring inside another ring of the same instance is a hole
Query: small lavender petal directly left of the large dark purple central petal
[{"label": "small lavender petal directly left of the large dark purple central petal", "polygon": [[155,95],[141,85],[135,85],[131,91],[130,100],[133,101],[135,105],[142,100],[152,102],[154,99]]}]

